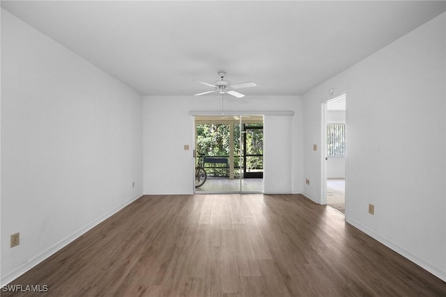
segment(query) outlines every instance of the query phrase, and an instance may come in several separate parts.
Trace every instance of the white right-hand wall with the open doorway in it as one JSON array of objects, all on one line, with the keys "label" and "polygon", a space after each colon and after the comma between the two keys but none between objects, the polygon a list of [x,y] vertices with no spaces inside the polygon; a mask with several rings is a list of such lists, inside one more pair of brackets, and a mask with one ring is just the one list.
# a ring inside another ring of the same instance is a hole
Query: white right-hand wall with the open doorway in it
[{"label": "white right-hand wall with the open doorway in it", "polygon": [[346,220],[446,281],[445,28],[443,13],[302,104],[304,193],[322,201],[321,103],[346,91]]}]

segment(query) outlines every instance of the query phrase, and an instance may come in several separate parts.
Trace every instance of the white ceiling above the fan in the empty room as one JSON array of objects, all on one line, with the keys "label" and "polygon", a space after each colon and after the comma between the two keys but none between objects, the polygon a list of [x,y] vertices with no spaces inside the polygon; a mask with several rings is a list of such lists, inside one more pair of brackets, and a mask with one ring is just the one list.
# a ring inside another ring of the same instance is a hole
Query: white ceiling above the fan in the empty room
[{"label": "white ceiling above the fan in the empty room", "polygon": [[227,72],[245,95],[302,95],[446,10],[445,1],[1,1],[143,95]]}]

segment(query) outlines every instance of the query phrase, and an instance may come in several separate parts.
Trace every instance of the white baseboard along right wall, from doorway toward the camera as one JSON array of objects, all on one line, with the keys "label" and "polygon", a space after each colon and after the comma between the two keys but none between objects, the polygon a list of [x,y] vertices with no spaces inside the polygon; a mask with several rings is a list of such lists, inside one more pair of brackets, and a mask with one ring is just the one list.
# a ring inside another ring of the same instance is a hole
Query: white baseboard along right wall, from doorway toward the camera
[{"label": "white baseboard along right wall, from doorway toward the camera", "polygon": [[411,262],[417,264],[424,270],[429,271],[429,273],[432,273],[440,280],[443,280],[443,282],[446,282],[446,271],[442,271],[441,268],[429,264],[428,262],[425,262],[423,259],[420,259],[420,257],[413,255],[413,253],[409,252],[405,248],[401,248],[401,246],[397,245],[396,243],[393,243],[384,236],[377,234],[373,230],[370,230],[369,228],[365,227],[364,225],[358,223],[355,220],[352,220],[351,218],[346,218],[346,222],[353,225],[353,227],[356,227],[357,229],[361,230],[365,234],[371,236],[372,238],[376,239],[380,243],[383,243],[383,245],[387,246],[387,248],[390,248],[395,252],[398,252],[399,255],[405,257],[406,259],[409,259]]}]

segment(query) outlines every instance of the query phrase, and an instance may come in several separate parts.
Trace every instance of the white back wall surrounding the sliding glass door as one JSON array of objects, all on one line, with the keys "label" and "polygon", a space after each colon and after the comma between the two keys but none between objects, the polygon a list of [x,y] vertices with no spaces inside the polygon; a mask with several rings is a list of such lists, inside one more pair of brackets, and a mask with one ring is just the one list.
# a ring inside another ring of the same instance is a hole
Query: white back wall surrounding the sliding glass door
[{"label": "white back wall surrounding the sliding glass door", "polygon": [[[301,163],[301,99],[298,96],[261,96],[236,99],[224,97],[225,111],[294,111],[294,115],[268,115],[265,118],[264,189],[266,193],[300,193],[302,184]],[[222,111],[222,97],[211,96],[146,96],[144,97],[144,193],[193,193],[194,118],[190,111]],[[277,120],[277,117],[289,120]],[[291,126],[289,126],[291,125]],[[284,135],[291,136],[285,139]],[[278,142],[276,142],[278,141]],[[285,143],[282,143],[285,141]],[[271,142],[271,143],[272,143]],[[183,150],[190,145],[191,150]],[[284,148],[286,147],[286,148]],[[286,152],[288,155],[282,155]],[[268,163],[268,159],[281,156],[288,165]],[[277,170],[277,171],[276,171]],[[288,180],[272,187],[267,180],[280,177]]]}]

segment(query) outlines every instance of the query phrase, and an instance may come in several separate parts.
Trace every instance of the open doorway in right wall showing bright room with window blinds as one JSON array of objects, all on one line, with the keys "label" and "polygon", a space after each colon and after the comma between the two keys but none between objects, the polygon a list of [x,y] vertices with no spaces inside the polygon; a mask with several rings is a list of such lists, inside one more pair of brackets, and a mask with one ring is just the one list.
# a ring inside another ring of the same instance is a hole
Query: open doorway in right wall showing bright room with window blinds
[{"label": "open doorway in right wall showing bright room with window blinds", "polygon": [[324,105],[325,203],[346,213],[346,94]]}]

